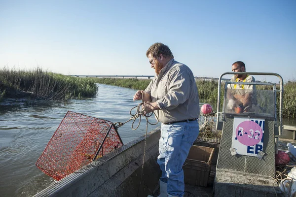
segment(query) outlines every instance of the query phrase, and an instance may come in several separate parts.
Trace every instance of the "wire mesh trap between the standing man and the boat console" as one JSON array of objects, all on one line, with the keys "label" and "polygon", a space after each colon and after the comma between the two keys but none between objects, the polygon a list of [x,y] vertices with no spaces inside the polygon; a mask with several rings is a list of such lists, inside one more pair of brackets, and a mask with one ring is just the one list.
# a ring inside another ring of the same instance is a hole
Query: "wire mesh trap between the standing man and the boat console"
[{"label": "wire mesh trap between the standing man and the boat console", "polygon": [[216,122],[216,113],[201,113],[199,116],[199,135],[196,140],[220,143],[222,130],[216,130]]}]

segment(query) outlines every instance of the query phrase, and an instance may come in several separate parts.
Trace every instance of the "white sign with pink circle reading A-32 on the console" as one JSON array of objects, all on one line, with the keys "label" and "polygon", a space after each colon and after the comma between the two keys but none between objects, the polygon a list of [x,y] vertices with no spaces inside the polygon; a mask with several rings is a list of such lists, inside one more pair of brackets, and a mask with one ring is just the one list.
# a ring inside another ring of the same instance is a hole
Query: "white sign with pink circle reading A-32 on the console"
[{"label": "white sign with pink circle reading A-32 on the console", "polygon": [[239,155],[257,156],[263,151],[264,119],[234,118],[232,145]]}]

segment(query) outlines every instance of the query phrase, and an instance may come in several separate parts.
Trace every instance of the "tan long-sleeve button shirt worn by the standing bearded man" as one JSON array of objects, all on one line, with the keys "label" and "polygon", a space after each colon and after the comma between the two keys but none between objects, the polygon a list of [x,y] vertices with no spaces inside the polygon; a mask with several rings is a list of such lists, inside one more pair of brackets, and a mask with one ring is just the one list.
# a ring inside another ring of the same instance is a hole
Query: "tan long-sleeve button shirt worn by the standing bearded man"
[{"label": "tan long-sleeve button shirt worn by the standing bearded man", "polygon": [[161,110],[155,114],[162,123],[199,117],[199,98],[190,68],[174,59],[164,66],[150,82],[145,92]]}]

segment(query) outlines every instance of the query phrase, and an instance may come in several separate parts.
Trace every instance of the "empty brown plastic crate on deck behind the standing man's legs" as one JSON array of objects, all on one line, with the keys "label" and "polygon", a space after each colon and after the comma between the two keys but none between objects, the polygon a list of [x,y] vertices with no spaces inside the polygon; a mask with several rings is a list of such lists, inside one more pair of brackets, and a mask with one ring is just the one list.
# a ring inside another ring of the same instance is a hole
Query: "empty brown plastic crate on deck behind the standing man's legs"
[{"label": "empty brown plastic crate on deck behind the standing man's legs", "polygon": [[207,187],[214,150],[214,148],[195,145],[190,148],[183,165],[186,184]]}]

